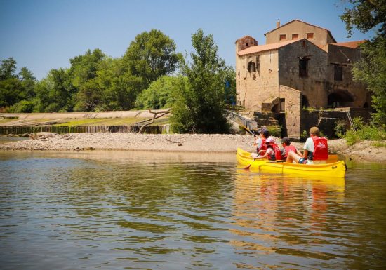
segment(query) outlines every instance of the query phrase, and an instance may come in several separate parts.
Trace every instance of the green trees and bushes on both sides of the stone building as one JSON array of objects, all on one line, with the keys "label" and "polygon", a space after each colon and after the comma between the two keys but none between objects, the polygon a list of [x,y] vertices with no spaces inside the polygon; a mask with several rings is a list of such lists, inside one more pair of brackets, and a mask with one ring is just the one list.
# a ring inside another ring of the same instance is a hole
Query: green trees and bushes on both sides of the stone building
[{"label": "green trees and bushes on both sides of the stone building", "polygon": [[[362,58],[352,69],[354,80],[365,83],[372,95],[371,123],[357,132],[342,130],[347,144],[384,140],[386,130],[386,5],[382,1],[347,1],[340,18],[352,29],[373,31],[361,45]],[[371,15],[368,15],[371,14]],[[157,29],[135,36],[121,58],[102,50],[87,50],[69,60],[70,67],[51,69],[36,81],[27,67],[17,74],[10,57],[0,65],[2,112],[98,112],[105,110],[171,107],[175,133],[227,133],[225,105],[235,101],[235,71],[218,56],[213,36],[202,29],[192,34],[191,62],[169,36]]]}]

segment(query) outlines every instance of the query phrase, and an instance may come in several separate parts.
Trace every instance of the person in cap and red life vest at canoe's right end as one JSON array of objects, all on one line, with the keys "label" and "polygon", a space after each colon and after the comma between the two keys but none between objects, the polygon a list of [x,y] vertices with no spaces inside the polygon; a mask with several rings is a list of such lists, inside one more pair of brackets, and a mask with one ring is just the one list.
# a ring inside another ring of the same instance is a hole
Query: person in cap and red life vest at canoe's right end
[{"label": "person in cap and red life vest at canoe's right end", "polygon": [[319,137],[319,128],[313,126],[310,129],[310,136],[304,145],[302,156],[293,152],[288,153],[287,161],[295,161],[300,164],[325,164],[328,159],[328,144],[325,137]]}]

